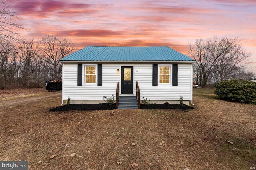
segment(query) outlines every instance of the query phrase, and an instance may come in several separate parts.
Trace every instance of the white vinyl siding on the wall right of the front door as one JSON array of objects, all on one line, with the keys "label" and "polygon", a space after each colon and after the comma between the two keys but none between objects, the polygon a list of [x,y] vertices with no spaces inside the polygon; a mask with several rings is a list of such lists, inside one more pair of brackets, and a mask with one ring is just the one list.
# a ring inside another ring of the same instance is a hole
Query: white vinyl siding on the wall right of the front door
[{"label": "white vinyl siding on the wall right of the front door", "polygon": [[178,64],[178,86],[152,86],[152,64],[140,64],[136,69],[143,70],[135,72],[134,75],[140,87],[141,99],[144,97],[150,100],[179,100],[180,96],[183,96],[183,100],[191,100],[191,64]]}]

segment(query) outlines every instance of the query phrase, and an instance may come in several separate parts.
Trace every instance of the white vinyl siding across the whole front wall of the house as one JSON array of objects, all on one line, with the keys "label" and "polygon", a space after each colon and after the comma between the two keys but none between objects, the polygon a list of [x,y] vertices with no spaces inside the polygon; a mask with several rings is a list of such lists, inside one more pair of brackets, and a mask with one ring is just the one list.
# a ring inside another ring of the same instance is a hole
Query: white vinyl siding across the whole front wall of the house
[{"label": "white vinyl siding across the whole front wall of the house", "polygon": [[[140,96],[150,100],[192,100],[191,64],[178,64],[178,86],[152,86],[152,64],[102,64],[102,86],[77,86],[77,64],[64,64],[63,96],[64,100],[102,100],[103,96],[115,95],[116,84],[120,83],[121,93],[121,66],[133,66],[134,94],[136,81],[140,86]],[[119,72],[117,69],[119,68]],[[171,67],[172,69],[172,67]],[[138,70],[136,72],[135,70]],[[159,76],[159,75],[158,75]],[[170,76],[172,78],[172,76]],[[172,81],[172,80],[170,80]]]}]

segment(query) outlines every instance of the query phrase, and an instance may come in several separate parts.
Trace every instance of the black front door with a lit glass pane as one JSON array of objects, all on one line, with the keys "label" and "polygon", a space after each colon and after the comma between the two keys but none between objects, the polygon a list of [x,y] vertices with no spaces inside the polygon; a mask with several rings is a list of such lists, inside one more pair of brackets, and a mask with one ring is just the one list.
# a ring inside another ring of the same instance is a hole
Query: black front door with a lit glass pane
[{"label": "black front door with a lit glass pane", "polygon": [[121,70],[121,94],[133,94],[133,66],[122,66]]}]

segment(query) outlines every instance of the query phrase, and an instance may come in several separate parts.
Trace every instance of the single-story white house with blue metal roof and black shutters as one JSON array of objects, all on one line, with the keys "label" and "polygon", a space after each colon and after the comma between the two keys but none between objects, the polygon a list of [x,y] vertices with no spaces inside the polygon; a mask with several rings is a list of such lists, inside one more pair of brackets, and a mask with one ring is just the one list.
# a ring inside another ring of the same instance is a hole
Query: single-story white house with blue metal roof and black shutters
[{"label": "single-story white house with blue metal roof and black shutters", "polygon": [[112,96],[117,108],[150,103],[192,103],[195,60],[169,47],[88,46],[60,60],[62,102],[103,103]]}]

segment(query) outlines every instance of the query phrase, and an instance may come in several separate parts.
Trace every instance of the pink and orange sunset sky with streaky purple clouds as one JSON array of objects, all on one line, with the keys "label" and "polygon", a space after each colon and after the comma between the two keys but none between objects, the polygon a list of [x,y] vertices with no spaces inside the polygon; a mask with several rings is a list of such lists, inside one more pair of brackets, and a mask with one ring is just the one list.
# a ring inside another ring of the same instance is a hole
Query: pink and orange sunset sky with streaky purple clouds
[{"label": "pink and orange sunset sky with streaky purple clouds", "polygon": [[195,39],[242,38],[256,72],[256,0],[10,0],[22,35],[88,45],[169,46],[187,54]]}]

